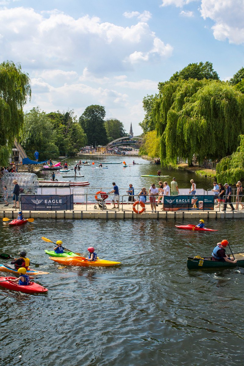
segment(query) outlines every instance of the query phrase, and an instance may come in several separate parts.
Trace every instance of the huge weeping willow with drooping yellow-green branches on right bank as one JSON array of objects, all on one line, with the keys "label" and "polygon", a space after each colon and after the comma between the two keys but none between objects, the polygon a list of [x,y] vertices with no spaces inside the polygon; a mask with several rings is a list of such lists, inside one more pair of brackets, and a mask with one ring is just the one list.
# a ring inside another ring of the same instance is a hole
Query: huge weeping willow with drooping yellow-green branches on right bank
[{"label": "huge weeping willow with drooping yellow-green branches on right bank", "polygon": [[232,154],[244,132],[244,95],[228,83],[179,79],[162,86],[154,103],[160,157],[175,165],[177,157],[195,154],[218,159]]}]

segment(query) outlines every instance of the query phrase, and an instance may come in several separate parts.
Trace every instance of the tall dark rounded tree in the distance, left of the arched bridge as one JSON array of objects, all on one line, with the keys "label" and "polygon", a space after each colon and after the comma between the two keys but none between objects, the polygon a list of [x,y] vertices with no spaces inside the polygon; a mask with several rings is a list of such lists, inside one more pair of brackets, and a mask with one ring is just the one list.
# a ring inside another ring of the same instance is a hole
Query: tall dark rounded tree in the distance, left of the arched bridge
[{"label": "tall dark rounded tree in the distance, left of the arched bridge", "polygon": [[101,105],[89,105],[79,118],[80,126],[87,135],[88,145],[106,145],[108,137],[104,125],[106,112]]}]

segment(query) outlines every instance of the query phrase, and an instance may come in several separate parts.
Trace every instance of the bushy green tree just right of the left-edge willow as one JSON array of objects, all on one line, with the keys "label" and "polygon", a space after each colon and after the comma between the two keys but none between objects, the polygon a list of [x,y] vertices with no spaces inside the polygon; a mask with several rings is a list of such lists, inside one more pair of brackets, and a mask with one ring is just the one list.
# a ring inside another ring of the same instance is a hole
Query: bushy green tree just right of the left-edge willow
[{"label": "bushy green tree just right of the left-edge willow", "polygon": [[25,114],[21,137],[21,144],[27,156],[33,160],[37,149],[40,161],[59,157],[59,149],[53,141],[55,141],[55,131],[49,117],[40,109],[32,108]]}]

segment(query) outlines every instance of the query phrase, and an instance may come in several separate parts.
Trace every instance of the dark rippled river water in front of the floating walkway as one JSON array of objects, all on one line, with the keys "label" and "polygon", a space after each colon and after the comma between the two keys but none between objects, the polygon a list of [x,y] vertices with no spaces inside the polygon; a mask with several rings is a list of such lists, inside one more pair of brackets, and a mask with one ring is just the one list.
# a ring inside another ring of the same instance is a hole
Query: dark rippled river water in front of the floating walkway
[{"label": "dark rippled river water in front of the floating walkway", "polygon": [[[26,249],[42,262],[47,295],[0,290],[3,365],[243,365],[243,275],[188,271],[188,255],[230,240],[243,251],[240,220],[210,221],[213,233],[177,230],[182,221],[40,220],[1,228],[1,252]],[[194,223],[192,221],[192,223]],[[10,240],[11,235],[11,240]],[[121,261],[117,268],[63,267],[40,238]],[[38,268],[38,267],[36,267]],[[22,346],[21,346],[22,344]]]}]

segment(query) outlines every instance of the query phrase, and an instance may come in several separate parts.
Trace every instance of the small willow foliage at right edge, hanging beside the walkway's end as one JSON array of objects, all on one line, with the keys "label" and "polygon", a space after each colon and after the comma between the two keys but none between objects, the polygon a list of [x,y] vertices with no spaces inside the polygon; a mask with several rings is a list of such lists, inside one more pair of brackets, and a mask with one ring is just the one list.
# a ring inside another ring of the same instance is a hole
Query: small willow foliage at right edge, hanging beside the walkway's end
[{"label": "small willow foliage at right edge, hanging beside the walkway's end", "polygon": [[237,151],[222,158],[216,165],[216,177],[219,183],[234,184],[244,179],[244,135],[239,136],[239,141]]}]

